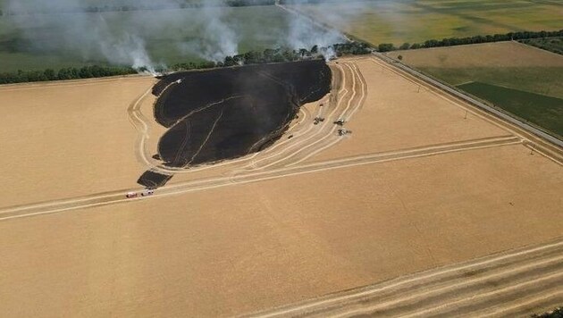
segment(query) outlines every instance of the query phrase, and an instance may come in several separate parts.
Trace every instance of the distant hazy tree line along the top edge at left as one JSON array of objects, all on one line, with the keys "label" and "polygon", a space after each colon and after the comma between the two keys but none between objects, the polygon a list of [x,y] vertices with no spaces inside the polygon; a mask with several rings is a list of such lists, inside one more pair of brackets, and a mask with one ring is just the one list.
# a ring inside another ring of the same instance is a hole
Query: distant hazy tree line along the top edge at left
[{"label": "distant hazy tree line along the top edge at left", "polygon": [[[225,0],[223,2],[207,3],[207,6],[254,6],[254,5],[274,5],[275,0]],[[49,14],[49,13],[113,13],[128,11],[151,11],[151,10],[168,10],[168,9],[197,9],[204,6],[203,3],[182,3],[182,4],[124,4],[124,5],[89,5],[86,7],[68,6],[54,7],[52,9],[27,10],[27,11],[9,11],[0,10],[0,16],[3,15],[24,15],[24,14]]]}]

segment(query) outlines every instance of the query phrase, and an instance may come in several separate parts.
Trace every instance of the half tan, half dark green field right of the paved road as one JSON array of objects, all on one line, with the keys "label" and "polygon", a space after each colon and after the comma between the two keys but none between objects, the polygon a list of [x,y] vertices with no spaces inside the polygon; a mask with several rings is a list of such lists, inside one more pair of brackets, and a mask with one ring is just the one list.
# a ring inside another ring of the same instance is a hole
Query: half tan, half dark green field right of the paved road
[{"label": "half tan, half dark green field right of the paved road", "polygon": [[388,55],[563,136],[563,55],[517,42]]}]

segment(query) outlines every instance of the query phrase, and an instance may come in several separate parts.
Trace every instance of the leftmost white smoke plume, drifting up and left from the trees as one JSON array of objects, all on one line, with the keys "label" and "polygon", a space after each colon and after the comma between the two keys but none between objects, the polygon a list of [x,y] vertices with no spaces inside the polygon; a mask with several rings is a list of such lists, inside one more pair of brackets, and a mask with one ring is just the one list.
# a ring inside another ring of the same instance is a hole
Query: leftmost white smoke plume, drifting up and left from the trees
[{"label": "leftmost white smoke plume, drifting up and left from the trees", "polygon": [[[84,62],[103,59],[155,72],[157,63],[148,54],[145,40],[137,33],[138,25],[131,23],[130,16],[123,14],[122,21],[115,23],[117,18],[111,13],[81,14],[80,10],[87,7],[87,1],[78,0],[9,0],[6,11],[49,13],[13,15],[13,21],[38,51],[78,54]],[[63,13],[56,13],[57,10]],[[68,11],[79,13],[65,13]],[[116,28],[116,24],[121,28]],[[43,29],[55,30],[57,37],[44,38]]]}]

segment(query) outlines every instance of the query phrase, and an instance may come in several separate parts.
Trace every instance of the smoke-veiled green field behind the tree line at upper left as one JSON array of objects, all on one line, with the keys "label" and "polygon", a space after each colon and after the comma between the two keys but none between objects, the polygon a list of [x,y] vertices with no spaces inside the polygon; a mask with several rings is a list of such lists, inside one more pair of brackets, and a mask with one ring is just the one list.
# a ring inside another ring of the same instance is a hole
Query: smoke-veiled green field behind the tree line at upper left
[{"label": "smoke-veiled green field behind the tree line at upper left", "polygon": [[[15,22],[22,18],[26,19],[25,23]],[[197,53],[185,49],[189,44],[201,42],[206,34],[204,24],[208,17],[199,9],[38,14],[0,17],[0,72],[107,64],[99,41],[88,41],[91,31],[81,24],[89,21],[87,25],[97,26],[101,19],[108,26],[106,32],[114,38],[122,38],[123,34],[142,38],[147,54],[155,63],[202,61]],[[221,19],[235,34],[242,53],[283,45],[290,25],[288,14],[275,6],[223,8]],[[60,21],[67,20],[69,28],[62,29]],[[72,28],[75,23],[80,25],[79,29]]]}]

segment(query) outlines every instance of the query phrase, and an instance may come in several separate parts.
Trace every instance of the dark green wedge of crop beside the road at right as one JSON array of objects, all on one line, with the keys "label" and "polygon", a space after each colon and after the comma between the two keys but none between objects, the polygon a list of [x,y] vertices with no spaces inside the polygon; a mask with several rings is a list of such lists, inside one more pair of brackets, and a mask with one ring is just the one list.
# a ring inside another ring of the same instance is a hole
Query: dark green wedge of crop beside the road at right
[{"label": "dark green wedge of crop beside the road at right", "polygon": [[563,136],[563,99],[528,93],[512,88],[471,82],[459,85],[467,93]]}]

